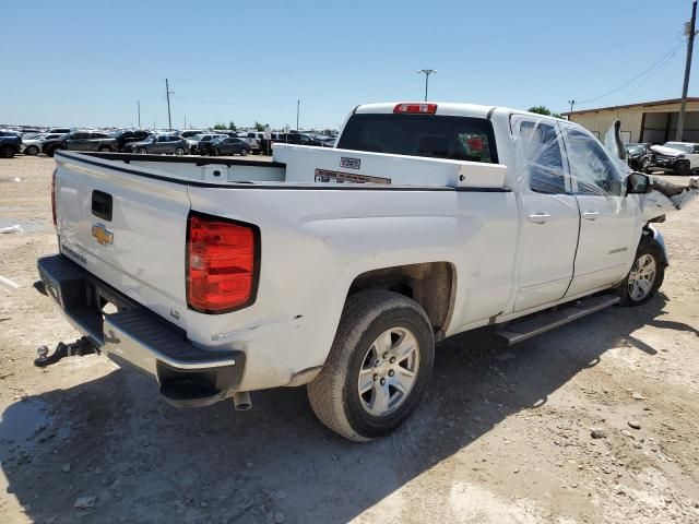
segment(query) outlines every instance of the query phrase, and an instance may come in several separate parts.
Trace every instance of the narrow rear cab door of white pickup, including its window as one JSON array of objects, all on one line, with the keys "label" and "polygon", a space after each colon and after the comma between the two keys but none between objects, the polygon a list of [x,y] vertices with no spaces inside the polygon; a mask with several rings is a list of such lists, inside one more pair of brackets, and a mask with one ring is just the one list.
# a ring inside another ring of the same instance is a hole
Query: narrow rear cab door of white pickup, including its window
[{"label": "narrow rear cab door of white pickup, including its window", "polygon": [[512,117],[520,177],[521,260],[514,311],[564,297],[573,275],[580,213],[553,120]]}]

